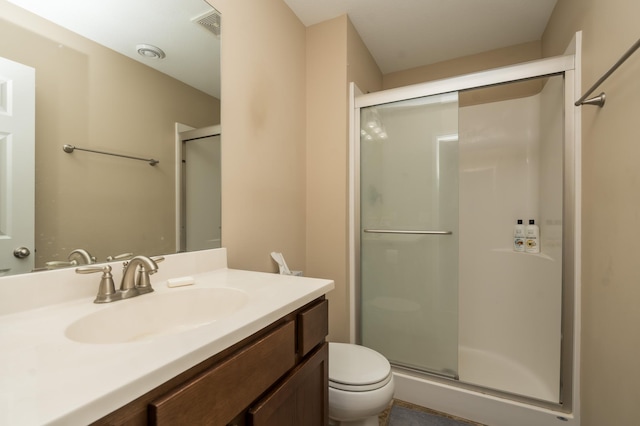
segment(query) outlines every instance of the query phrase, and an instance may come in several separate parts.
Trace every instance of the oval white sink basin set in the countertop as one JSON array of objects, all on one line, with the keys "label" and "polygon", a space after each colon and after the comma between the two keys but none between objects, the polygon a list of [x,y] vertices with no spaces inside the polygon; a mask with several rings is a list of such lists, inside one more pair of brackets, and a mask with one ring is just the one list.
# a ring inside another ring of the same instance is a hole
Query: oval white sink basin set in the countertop
[{"label": "oval white sink basin set in the countertop", "polygon": [[73,322],[67,338],[80,343],[127,343],[191,330],[227,317],[248,300],[233,288],[192,288],[150,293],[113,305]]}]

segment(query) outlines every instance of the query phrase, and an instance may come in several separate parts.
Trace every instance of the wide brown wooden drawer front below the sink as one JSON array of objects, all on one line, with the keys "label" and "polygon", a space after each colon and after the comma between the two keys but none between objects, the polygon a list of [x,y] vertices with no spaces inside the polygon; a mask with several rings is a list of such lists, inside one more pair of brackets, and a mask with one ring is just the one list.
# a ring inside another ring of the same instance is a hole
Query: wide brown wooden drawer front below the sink
[{"label": "wide brown wooden drawer front below the sink", "polygon": [[226,424],[294,365],[295,323],[289,321],[151,402],[149,424]]}]

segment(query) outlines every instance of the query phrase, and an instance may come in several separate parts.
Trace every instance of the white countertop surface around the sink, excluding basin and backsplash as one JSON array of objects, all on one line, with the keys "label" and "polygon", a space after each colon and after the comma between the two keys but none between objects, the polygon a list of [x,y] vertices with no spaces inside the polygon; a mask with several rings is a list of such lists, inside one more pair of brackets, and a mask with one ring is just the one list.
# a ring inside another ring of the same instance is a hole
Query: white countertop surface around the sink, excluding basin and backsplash
[{"label": "white countertop surface around the sink, excluding basin and backsplash", "polygon": [[[226,264],[226,252],[224,255]],[[180,256],[184,259],[185,255]],[[178,273],[172,268],[171,272]],[[114,268],[114,276],[115,272]],[[334,286],[330,280],[226,267],[179,273],[182,275],[164,274],[161,280],[154,279],[159,274],[153,275],[155,292],[130,300],[94,304],[92,295],[0,315],[0,425],[82,425],[95,421]],[[167,287],[168,278],[184,275],[192,275],[195,284]],[[56,279],[62,276],[55,274]],[[84,277],[84,281],[91,281]],[[99,275],[90,277],[95,278],[97,289]],[[7,284],[11,283],[0,281],[0,286]],[[87,344],[65,337],[72,322],[114,304],[206,287],[240,289],[249,300],[229,317],[150,340]]]}]

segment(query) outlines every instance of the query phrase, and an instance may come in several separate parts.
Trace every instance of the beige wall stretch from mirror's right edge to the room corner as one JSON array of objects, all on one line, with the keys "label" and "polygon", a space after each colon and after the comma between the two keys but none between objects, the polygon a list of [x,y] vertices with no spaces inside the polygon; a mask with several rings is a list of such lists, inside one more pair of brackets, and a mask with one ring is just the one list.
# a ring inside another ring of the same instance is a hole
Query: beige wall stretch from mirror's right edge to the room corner
[{"label": "beige wall stretch from mirror's right edge to the room corner", "polygon": [[[305,27],[282,0],[222,13],[222,245],[233,268],[305,269]],[[306,272],[306,271],[305,271]]]}]

